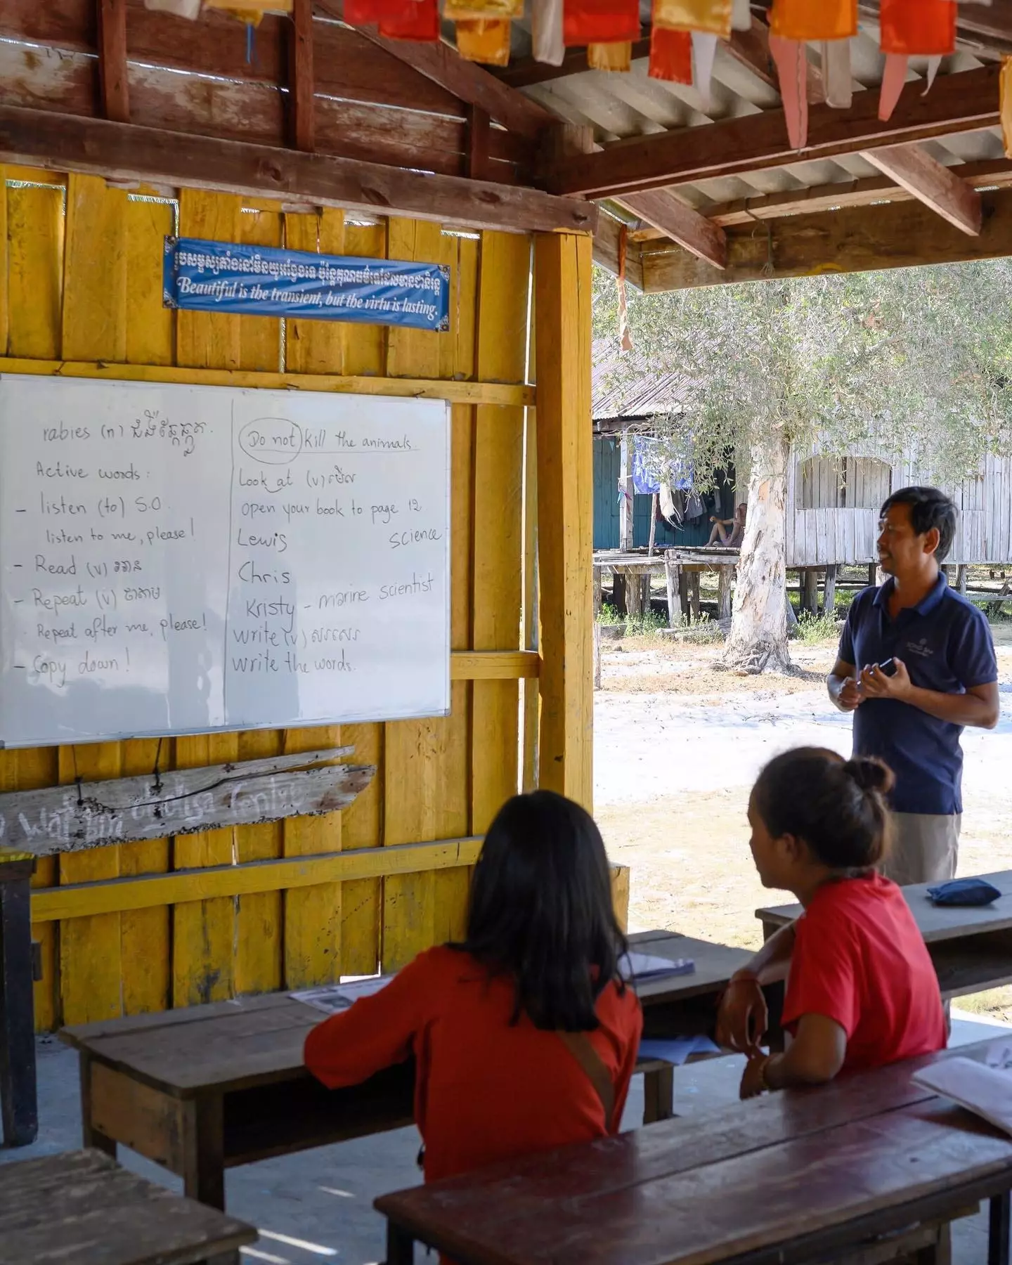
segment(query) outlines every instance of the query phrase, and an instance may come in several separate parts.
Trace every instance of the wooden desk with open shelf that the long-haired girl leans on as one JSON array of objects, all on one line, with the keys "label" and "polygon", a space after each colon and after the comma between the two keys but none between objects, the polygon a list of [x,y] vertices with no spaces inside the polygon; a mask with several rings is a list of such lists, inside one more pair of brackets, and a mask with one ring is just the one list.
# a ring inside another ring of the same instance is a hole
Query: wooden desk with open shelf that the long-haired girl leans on
[{"label": "wooden desk with open shelf that the long-haired girl leans on", "polygon": [[[634,936],[636,949],[693,958],[696,973],[644,985],[657,1036],[705,1032],[713,1003],[749,954],[670,932]],[[225,1206],[225,1169],[412,1121],[414,1066],[325,1089],[302,1065],[323,1016],[285,993],[110,1020],[59,1035],[81,1056],[83,1142],[129,1146],[183,1179],[186,1193]],[[669,1064],[644,1065],[648,1120],[670,1116]]]}]

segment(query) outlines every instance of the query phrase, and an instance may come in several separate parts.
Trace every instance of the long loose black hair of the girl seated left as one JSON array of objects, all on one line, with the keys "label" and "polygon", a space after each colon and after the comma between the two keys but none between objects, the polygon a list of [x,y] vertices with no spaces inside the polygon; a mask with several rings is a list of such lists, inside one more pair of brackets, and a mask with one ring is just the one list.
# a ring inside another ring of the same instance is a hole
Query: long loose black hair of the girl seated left
[{"label": "long loose black hair of the girl seated left", "polygon": [[512,1022],[589,1032],[595,1002],[622,987],[626,940],[615,918],[601,831],[588,812],[552,791],[515,796],[484,836],[467,920],[454,949],[516,983]]}]

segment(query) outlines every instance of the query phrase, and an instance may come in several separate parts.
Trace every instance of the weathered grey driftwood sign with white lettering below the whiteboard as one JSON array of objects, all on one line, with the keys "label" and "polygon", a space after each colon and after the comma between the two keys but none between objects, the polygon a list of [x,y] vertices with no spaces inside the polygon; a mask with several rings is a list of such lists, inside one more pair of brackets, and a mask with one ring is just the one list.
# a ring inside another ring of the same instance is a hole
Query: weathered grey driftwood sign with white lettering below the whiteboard
[{"label": "weathered grey driftwood sign with white lettering below the whiteboard", "polygon": [[354,748],[0,794],[0,848],[48,856],[345,808],[376,773]]}]

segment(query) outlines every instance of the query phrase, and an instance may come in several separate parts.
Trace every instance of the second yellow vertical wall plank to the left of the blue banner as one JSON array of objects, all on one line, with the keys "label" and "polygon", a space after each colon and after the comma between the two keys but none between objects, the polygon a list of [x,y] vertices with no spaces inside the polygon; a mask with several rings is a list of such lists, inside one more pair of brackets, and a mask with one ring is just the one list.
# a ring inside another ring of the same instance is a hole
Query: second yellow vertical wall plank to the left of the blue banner
[{"label": "second yellow vertical wall plank to the left of the blue banner", "polygon": [[[94,176],[67,181],[62,355],[70,361],[123,361],[126,355],[126,194]],[[102,781],[123,774],[123,745],[59,749],[59,781]],[[61,883],[120,875],[120,849],[96,848],[59,858]],[[70,918],[59,935],[63,1018],[91,1023],[123,1013],[121,916]]]}]

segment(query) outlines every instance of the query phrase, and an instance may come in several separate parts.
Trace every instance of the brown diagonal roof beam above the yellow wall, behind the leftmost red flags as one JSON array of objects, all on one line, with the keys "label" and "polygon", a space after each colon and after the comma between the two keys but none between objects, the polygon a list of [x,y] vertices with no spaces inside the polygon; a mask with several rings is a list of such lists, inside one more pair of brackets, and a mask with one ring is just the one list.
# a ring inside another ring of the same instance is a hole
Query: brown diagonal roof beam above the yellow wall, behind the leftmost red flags
[{"label": "brown diagonal roof beam above the yellow wall, behind the leftmost red flags", "polygon": [[[344,20],[342,0],[316,0],[316,6],[329,16]],[[439,83],[448,92],[453,92],[459,100],[487,110],[490,116],[509,132],[517,132],[534,140],[546,126],[559,121],[544,106],[531,101],[522,92],[515,91],[481,66],[466,62],[449,44],[441,42],[419,44],[407,39],[383,39],[369,27],[355,27],[354,29],[420,75]]]}]

